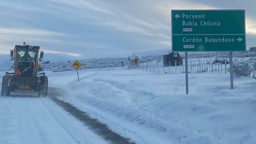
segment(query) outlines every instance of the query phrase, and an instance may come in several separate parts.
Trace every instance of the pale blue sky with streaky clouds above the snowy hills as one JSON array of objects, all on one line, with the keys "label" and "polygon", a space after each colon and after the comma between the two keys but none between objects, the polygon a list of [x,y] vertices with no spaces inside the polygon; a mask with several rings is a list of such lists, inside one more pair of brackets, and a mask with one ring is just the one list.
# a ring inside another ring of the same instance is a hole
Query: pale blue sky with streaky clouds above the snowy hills
[{"label": "pale blue sky with streaky clouds above the snowy hills", "polygon": [[256,46],[255,5],[255,0],[4,0],[0,54],[23,42],[39,45],[53,61],[127,57],[133,51],[165,54],[172,44],[171,9],[245,9],[249,49]]}]

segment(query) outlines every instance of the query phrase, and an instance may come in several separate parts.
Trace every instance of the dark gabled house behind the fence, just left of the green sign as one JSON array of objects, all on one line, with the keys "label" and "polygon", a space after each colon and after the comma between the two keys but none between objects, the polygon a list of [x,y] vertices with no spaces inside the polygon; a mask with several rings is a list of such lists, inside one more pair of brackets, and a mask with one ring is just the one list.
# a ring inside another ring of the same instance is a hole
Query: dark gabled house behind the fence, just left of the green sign
[{"label": "dark gabled house behind the fence, just left of the green sign", "polygon": [[163,65],[166,66],[179,66],[183,64],[183,58],[178,52],[171,52],[163,55]]}]

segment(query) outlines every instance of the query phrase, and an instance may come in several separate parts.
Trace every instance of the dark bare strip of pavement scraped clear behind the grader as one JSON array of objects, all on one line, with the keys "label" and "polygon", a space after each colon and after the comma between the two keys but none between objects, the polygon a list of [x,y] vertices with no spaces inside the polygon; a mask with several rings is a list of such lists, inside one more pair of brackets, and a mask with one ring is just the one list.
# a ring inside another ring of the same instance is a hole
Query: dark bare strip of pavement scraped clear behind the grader
[{"label": "dark bare strip of pavement scraped clear behind the grader", "polygon": [[52,101],[66,110],[68,113],[73,115],[76,119],[83,122],[86,126],[92,129],[93,132],[102,136],[105,140],[113,144],[135,144],[131,142],[129,138],[124,138],[119,134],[112,132],[106,124],[101,123],[95,118],[91,118],[86,112],[81,111],[80,109],[74,107],[68,102],[59,100],[56,97],[50,97]]}]

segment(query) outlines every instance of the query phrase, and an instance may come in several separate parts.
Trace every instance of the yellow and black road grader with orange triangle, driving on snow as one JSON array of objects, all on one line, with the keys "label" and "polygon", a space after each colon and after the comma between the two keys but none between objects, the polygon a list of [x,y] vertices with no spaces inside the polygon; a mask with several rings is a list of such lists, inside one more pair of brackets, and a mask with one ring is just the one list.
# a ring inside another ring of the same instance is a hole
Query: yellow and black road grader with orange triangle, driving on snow
[{"label": "yellow and black road grader with orange triangle, driving on snow", "polygon": [[26,45],[24,42],[23,46],[15,45],[10,50],[14,73],[6,72],[3,76],[2,96],[9,96],[15,90],[33,90],[38,92],[39,97],[47,96],[48,78],[38,63],[38,60],[44,61],[44,52],[39,49],[39,46]]}]

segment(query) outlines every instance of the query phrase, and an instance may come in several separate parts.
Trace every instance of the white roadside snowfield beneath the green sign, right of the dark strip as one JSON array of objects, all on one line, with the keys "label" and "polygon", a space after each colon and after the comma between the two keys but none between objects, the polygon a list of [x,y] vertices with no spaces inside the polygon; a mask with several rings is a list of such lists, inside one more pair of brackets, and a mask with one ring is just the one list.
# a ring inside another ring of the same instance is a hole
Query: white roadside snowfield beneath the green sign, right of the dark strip
[{"label": "white roadside snowfield beneath the green sign, right of the dark strip", "polygon": [[255,79],[229,73],[156,75],[106,68],[48,73],[49,87],[114,132],[138,144],[254,144]]}]

